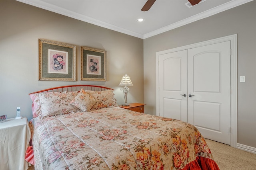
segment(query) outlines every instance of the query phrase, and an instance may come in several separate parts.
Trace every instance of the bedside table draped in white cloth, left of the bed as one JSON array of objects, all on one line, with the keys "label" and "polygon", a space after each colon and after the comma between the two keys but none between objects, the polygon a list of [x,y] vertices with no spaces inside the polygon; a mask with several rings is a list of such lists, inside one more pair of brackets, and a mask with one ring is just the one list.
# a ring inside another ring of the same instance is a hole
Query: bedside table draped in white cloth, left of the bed
[{"label": "bedside table draped in white cloth, left of the bed", "polygon": [[6,119],[0,123],[0,170],[27,170],[26,150],[30,129],[26,117]]}]

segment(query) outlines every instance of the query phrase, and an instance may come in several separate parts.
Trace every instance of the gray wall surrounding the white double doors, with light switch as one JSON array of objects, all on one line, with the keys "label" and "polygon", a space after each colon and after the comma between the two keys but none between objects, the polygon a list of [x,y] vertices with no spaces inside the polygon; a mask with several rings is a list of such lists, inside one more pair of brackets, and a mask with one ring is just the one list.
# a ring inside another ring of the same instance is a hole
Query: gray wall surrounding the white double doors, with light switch
[{"label": "gray wall surrounding the white double doors, with light switch", "polygon": [[144,39],[145,112],[156,114],[156,52],[238,34],[237,143],[256,147],[256,1]]}]

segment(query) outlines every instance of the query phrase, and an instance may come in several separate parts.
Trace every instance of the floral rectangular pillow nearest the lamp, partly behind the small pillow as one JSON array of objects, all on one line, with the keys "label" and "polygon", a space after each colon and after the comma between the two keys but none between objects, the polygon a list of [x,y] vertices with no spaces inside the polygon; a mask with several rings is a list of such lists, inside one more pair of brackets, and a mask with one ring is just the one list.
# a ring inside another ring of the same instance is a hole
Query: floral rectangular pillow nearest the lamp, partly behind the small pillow
[{"label": "floral rectangular pillow nearest the lamp, partly behind the small pillow", "polygon": [[90,94],[93,98],[97,100],[96,104],[92,106],[93,109],[100,109],[104,107],[118,107],[116,103],[116,99],[114,98],[114,93],[112,90],[105,91],[91,91],[87,90],[88,94]]}]

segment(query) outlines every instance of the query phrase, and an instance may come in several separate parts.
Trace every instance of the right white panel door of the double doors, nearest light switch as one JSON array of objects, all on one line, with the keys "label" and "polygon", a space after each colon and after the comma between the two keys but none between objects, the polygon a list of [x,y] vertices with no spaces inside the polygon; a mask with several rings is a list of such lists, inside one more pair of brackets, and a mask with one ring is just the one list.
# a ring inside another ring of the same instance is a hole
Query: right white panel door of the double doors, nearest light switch
[{"label": "right white panel door of the double doors, nearest light switch", "polygon": [[228,145],[230,49],[230,41],[188,49],[188,123],[203,137]]}]

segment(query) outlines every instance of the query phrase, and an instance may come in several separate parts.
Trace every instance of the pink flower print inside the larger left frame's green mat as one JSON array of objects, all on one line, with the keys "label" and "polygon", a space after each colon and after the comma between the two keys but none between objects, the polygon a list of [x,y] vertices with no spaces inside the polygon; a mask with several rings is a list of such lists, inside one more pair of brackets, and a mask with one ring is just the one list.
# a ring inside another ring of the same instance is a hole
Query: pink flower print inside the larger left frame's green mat
[{"label": "pink flower print inside the larger left frame's green mat", "polygon": [[48,73],[68,74],[68,52],[48,49]]}]

